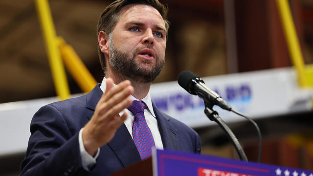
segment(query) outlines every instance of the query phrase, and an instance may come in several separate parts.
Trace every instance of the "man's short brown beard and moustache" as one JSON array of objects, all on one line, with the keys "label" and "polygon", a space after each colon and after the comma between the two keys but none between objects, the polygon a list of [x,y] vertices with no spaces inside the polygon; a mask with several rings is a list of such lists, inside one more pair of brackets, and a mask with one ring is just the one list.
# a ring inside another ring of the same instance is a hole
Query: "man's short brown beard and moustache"
[{"label": "man's short brown beard and moustache", "polygon": [[[111,36],[112,37],[112,36]],[[150,83],[160,74],[165,61],[161,60],[155,52],[156,66],[152,69],[141,67],[135,61],[135,56],[144,48],[137,48],[133,53],[124,53],[113,46],[112,38],[110,40],[110,63],[111,66],[121,73],[123,76],[137,82]],[[143,60],[142,62],[149,63],[151,61]]]}]

